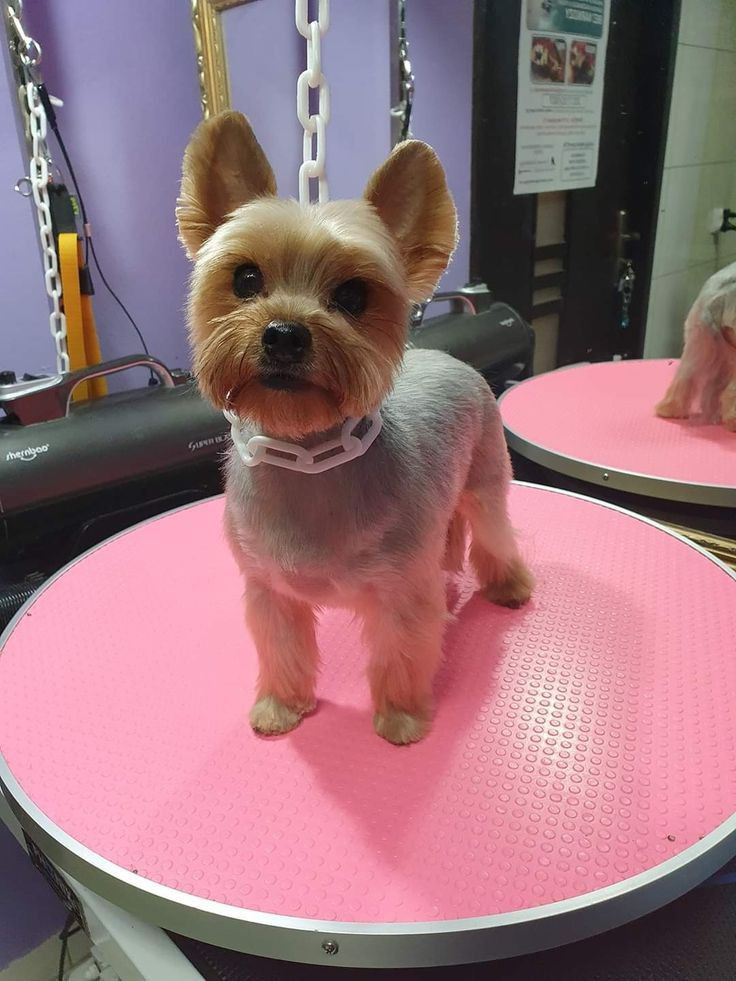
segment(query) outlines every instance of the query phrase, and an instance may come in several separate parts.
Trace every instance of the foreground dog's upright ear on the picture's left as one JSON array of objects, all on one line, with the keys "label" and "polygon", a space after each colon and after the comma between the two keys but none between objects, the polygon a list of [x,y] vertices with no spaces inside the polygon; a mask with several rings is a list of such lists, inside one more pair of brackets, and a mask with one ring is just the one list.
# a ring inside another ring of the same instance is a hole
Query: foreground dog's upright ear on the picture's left
[{"label": "foreground dog's upright ear on the picture's left", "polygon": [[176,203],[179,238],[189,258],[241,204],[275,193],[271,165],[245,116],[227,110],[205,119],[184,153]]}]

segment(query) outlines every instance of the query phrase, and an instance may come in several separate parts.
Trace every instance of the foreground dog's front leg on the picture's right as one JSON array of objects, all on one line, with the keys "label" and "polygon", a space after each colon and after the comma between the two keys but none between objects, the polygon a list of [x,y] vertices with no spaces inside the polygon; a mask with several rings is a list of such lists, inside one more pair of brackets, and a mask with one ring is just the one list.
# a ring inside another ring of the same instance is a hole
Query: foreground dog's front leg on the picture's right
[{"label": "foreground dog's front leg on the picture's right", "polygon": [[370,650],[373,725],[391,743],[414,743],[429,730],[432,681],[447,620],[444,580],[397,585],[373,593],[361,610]]}]

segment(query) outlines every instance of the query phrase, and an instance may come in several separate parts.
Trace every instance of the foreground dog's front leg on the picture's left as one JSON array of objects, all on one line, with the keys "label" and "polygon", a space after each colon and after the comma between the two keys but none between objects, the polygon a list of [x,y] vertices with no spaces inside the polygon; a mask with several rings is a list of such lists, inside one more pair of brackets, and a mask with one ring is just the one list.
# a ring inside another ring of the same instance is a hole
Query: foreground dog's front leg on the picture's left
[{"label": "foreground dog's front leg on the picture's left", "polygon": [[319,654],[314,611],[246,577],[245,612],[258,651],[258,691],[250,723],[273,736],[289,732],[315,706]]}]

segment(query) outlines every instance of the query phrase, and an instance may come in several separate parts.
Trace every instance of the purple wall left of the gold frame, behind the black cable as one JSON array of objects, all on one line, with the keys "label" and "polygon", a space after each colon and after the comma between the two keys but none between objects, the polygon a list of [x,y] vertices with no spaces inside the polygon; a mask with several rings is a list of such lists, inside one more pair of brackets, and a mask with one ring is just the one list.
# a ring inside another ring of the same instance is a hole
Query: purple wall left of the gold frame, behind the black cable
[{"label": "purple wall left of the gold frame, behind the black cable", "polygon": [[[200,118],[189,5],[128,0],[123,13],[118,4],[33,0],[25,11],[43,47],[49,90],[65,102],[59,124],[107,278],[151,352],[185,365],[181,311],[188,264],[176,240],[174,203],[184,146]],[[33,261],[38,290],[43,283],[35,254],[29,266]],[[103,355],[139,351],[99,276],[94,281]],[[30,333],[17,338],[16,361],[25,367],[37,347],[35,339],[33,346],[26,340]]]}]

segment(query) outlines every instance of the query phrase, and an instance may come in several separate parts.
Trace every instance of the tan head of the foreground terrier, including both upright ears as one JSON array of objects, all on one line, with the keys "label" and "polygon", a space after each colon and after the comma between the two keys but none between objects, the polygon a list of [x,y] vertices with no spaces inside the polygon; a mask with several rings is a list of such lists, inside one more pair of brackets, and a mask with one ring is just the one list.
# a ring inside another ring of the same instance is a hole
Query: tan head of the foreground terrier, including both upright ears
[{"label": "tan head of the foreground terrier, including both upright ears", "polygon": [[456,243],[445,175],[399,144],[364,196],[302,207],[240,113],[203,122],[184,157],[179,234],[194,273],[189,329],[204,395],[298,437],[375,409],[401,363],[409,307]]}]

